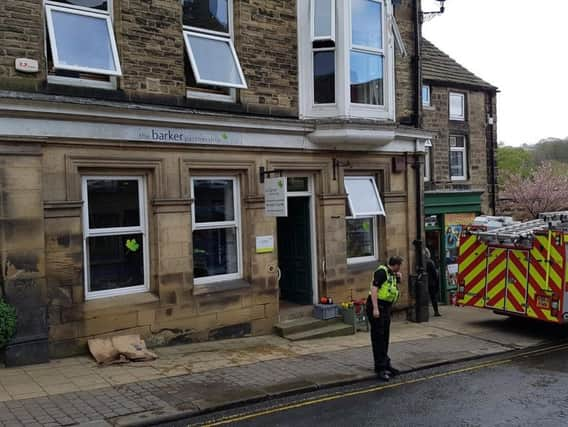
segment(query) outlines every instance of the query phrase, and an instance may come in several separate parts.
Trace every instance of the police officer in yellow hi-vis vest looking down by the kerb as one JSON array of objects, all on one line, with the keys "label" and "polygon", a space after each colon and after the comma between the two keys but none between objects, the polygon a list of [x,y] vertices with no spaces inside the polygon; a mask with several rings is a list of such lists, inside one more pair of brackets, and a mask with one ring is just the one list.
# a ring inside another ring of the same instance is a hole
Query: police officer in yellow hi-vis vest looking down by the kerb
[{"label": "police officer in yellow hi-vis vest looking down by the kerb", "polygon": [[398,369],[391,365],[388,351],[391,309],[398,300],[402,261],[401,257],[393,256],[389,259],[388,266],[381,265],[377,268],[367,298],[367,317],[371,324],[375,372],[383,381],[389,381],[392,376],[399,374]]}]

